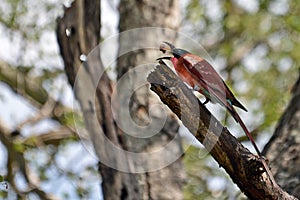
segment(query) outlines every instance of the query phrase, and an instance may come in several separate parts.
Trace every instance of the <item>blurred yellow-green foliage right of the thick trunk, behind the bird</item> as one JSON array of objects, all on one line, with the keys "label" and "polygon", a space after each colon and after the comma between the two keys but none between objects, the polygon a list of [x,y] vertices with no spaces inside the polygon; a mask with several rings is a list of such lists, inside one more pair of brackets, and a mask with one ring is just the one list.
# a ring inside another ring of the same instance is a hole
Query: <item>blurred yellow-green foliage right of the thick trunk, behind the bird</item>
[{"label": "blurred yellow-green foliage right of the thick trunk, behind the bird", "polygon": [[[182,31],[203,45],[236,96],[245,102],[250,112],[244,116],[251,116],[247,124],[255,135],[271,134],[298,77],[299,3],[190,0],[185,7]],[[207,177],[215,172],[205,168],[205,159],[186,157],[185,160],[192,180],[186,186],[185,197],[195,199],[199,188],[205,188],[209,180],[196,179],[193,172],[204,171]],[[200,199],[212,196],[207,188],[200,193],[203,196]]]}]

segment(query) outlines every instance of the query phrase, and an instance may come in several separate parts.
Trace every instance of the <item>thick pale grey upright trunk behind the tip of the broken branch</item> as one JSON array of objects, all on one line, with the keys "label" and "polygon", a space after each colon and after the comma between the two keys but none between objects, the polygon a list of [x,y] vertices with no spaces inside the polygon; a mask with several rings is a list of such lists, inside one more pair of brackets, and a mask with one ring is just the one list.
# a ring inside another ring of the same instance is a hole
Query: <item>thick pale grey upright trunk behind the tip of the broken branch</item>
[{"label": "thick pale grey upright trunk behind the tip of the broken branch", "polygon": [[[126,118],[131,118],[140,127],[148,126],[149,128],[146,131],[141,131],[141,135],[146,135],[145,132],[151,131],[151,125],[164,121],[164,116],[167,115],[166,122],[162,125],[161,130],[153,133],[153,136],[139,138],[139,135],[137,137],[127,135],[125,137],[127,148],[132,152],[151,153],[165,145],[169,145],[170,151],[165,151],[160,156],[149,157],[147,159],[149,164],[163,165],[168,158],[174,156],[179,158],[170,165],[154,172],[147,172],[147,167],[149,167],[147,165],[141,165],[140,162],[134,163],[134,169],[144,171],[137,175],[141,184],[141,199],[183,198],[182,185],[185,175],[180,158],[183,152],[177,134],[179,125],[170,112],[165,114],[160,106],[152,107],[152,105],[160,102],[149,90],[149,85],[141,85],[138,81],[144,79],[146,83],[146,76],[149,70],[153,69],[153,63],[158,57],[158,47],[161,41],[172,42],[175,40],[176,32],[165,31],[162,27],[173,30],[178,29],[180,13],[178,4],[178,1],[175,0],[129,0],[121,1],[119,5],[119,31],[121,35],[119,37],[117,74],[119,79],[126,77],[128,82],[120,84],[118,91],[126,91],[126,93],[132,95],[130,96],[129,108],[122,98],[119,99],[119,106],[130,110],[130,116],[120,111],[119,117],[123,122]],[[155,27],[158,28],[155,29]],[[135,28],[142,29],[134,30]],[[126,30],[132,32],[132,34],[127,34],[129,37],[122,34]],[[124,54],[124,52],[128,53]],[[134,73],[127,73],[129,70],[134,71]],[[151,111],[149,111],[150,108]]]}]

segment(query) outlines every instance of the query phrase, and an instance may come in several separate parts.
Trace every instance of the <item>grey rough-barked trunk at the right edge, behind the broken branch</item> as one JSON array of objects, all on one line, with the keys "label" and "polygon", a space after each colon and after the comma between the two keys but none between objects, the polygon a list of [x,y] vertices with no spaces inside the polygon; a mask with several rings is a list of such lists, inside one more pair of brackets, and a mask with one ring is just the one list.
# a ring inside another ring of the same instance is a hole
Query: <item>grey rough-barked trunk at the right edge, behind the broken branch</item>
[{"label": "grey rough-barked trunk at the right edge, behind the broken branch", "polygon": [[278,184],[300,198],[300,77],[274,135],[264,148]]}]

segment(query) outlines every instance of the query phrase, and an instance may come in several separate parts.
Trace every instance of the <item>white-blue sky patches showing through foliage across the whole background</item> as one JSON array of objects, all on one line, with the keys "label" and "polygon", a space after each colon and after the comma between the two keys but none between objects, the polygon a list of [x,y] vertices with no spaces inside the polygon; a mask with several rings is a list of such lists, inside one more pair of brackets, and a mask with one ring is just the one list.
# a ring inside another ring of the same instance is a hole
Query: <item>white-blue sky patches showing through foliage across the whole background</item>
[{"label": "white-blue sky patches showing through foliage across the whole background", "polygon": [[[214,0],[217,1],[217,0]],[[255,13],[258,9],[258,2],[257,0],[234,0],[237,2],[238,5],[240,5],[242,8],[247,10],[250,13]],[[57,9],[54,11],[54,13],[51,13],[51,16],[49,18],[47,12],[45,12],[45,8],[39,7],[39,9],[35,9],[37,7],[36,4],[39,4],[37,0],[29,0],[29,5],[31,8],[34,8],[35,12],[29,14],[28,18],[24,18],[23,23],[30,24],[31,23],[31,18],[38,16],[37,24],[39,26],[43,26],[43,24],[49,23],[48,20],[54,20],[57,16],[61,15],[63,13],[62,8]],[[48,0],[48,2],[52,2],[55,4],[60,4],[61,1],[59,0]],[[65,6],[70,5],[70,0],[65,0],[63,1]],[[275,0],[272,3],[272,6],[270,8],[270,11],[276,14],[285,14],[288,11],[288,7],[286,4],[287,0]],[[187,3],[187,0],[180,1],[181,6],[184,7],[184,5]],[[101,29],[101,34],[102,37],[107,38],[110,37],[111,35],[114,35],[118,32],[117,26],[118,26],[118,11],[117,11],[117,5],[118,5],[118,0],[104,0],[102,1],[102,12],[101,12],[101,17],[102,17],[102,29]],[[213,5],[213,1],[211,4],[208,5]],[[0,3],[0,8],[6,10],[7,5],[5,5],[4,2]],[[217,18],[220,15],[220,10],[218,9],[217,6],[211,6],[211,17],[212,18]],[[182,30],[184,32],[184,30]],[[188,33],[186,33],[188,35]],[[13,65],[32,65],[34,64],[35,66],[38,66],[38,68],[41,69],[52,69],[52,68],[57,68],[57,69],[63,69],[63,62],[61,58],[58,56],[59,55],[59,49],[57,46],[56,42],[56,35],[53,30],[45,30],[42,34],[41,40],[34,42],[34,43],[29,43],[25,44],[22,43],[21,37],[18,33],[11,33],[7,32],[5,27],[0,25],[0,59],[4,60],[8,63],[11,63]],[[21,55],[20,52],[22,52],[22,49],[26,48],[26,54]],[[116,50],[117,50],[117,44],[115,44],[114,47],[112,47],[115,51],[111,51],[111,55],[109,56],[114,56],[116,55]],[[38,51],[37,51],[38,50]],[[245,65],[248,66],[249,70],[258,70],[255,67],[258,66],[255,64],[255,61],[257,61],[257,57],[263,56],[264,53],[264,48],[261,47],[260,49],[257,50],[257,52],[254,52],[253,55],[250,55],[247,57],[247,59],[244,60]],[[39,52],[43,52],[43,54],[40,54]],[[289,60],[283,60],[282,61],[282,70],[285,70],[285,68],[288,67],[290,64]],[[218,62],[217,62],[218,64]],[[220,64],[221,65],[221,64]],[[286,66],[286,67],[285,67]],[[33,73],[39,73],[39,69],[35,70]],[[114,74],[111,74],[111,77],[113,77]],[[59,76],[54,82],[49,82],[45,84],[45,88],[50,91],[52,96],[56,99],[59,99],[63,104],[66,106],[73,107],[74,105],[74,96],[73,96],[73,91],[69,87],[69,84],[66,80],[65,76]],[[255,103],[254,103],[255,104]],[[209,109],[214,109],[213,105],[209,105]],[[16,95],[14,92],[12,92],[8,87],[0,83],[0,120],[4,121],[8,127],[13,130],[16,125],[24,120],[26,120],[28,117],[34,116],[36,114],[37,110],[32,107],[26,100],[23,98],[19,97]],[[245,121],[248,121],[251,117],[251,113],[247,113],[247,116],[243,114],[242,116],[245,118]],[[46,132],[49,129],[55,129],[57,125],[55,123],[52,123],[50,120],[43,120],[41,123],[34,125],[34,126],[28,126],[25,128],[23,134],[24,135],[29,135],[29,134],[35,134],[35,133],[40,133],[40,132]],[[186,130],[184,127],[181,127],[181,132],[184,133]],[[259,145],[263,145],[268,138],[264,138],[262,142],[260,142]],[[62,152],[62,155],[58,157],[58,163],[61,165],[61,169],[64,170],[64,168],[68,167],[69,163],[74,163],[74,149],[78,149],[77,154],[84,154],[86,152],[86,148],[84,145],[82,146],[72,146],[71,144],[69,147],[64,149]],[[251,146],[248,146],[252,151],[254,150]],[[91,152],[89,152],[91,153]],[[88,153],[88,154],[89,154]],[[43,155],[40,155],[41,158],[43,158]],[[66,159],[68,158],[68,159]],[[6,173],[5,169],[5,160],[6,160],[6,152],[4,151],[4,148],[2,145],[0,145],[0,175]],[[83,167],[84,165],[87,164],[93,164],[95,163],[96,160],[94,159],[94,155],[87,156],[86,161],[80,166],[75,166],[78,167],[78,169],[74,169],[75,171],[77,170],[77,173],[80,173],[80,168]],[[73,169],[72,169],[73,170]],[[56,181],[54,185],[60,185],[61,183],[66,184],[64,189],[68,189],[72,187],[72,185],[76,185],[73,182],[65,182],[64,177],[62,178],[56,178],[54,181]],[[99,184],[99,179],[94,180],[97,184]],[[21,182],[21,181],[20,181]],[[94,183],[95,183],[94,182]],[[218,182],[218,181],[217,181]],[[213,182],[212,184],[215,184]],[[49,191],[56,190],[57,188],[51,188],[51,184],[43,186]],[[100,194],[101,192],[98,189],[94,189],[94,194]],[[63,193],[64,191],[61,191]],[[97,196],[97,199],[100,198],[101,196]]]}]

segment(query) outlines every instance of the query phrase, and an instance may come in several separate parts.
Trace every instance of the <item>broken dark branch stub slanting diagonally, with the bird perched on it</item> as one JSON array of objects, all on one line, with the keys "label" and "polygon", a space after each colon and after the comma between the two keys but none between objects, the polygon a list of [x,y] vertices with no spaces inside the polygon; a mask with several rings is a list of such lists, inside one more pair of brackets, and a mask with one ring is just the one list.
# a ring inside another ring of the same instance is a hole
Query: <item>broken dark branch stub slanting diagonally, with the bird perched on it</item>
[{"label": "broken dark branch stub slanting diagonally, with the bird perched on it", "polygon": [[250,199],[296,199],[271,183],[261,160],[243,147],[166,65],[157,66],[148,81]]}]

